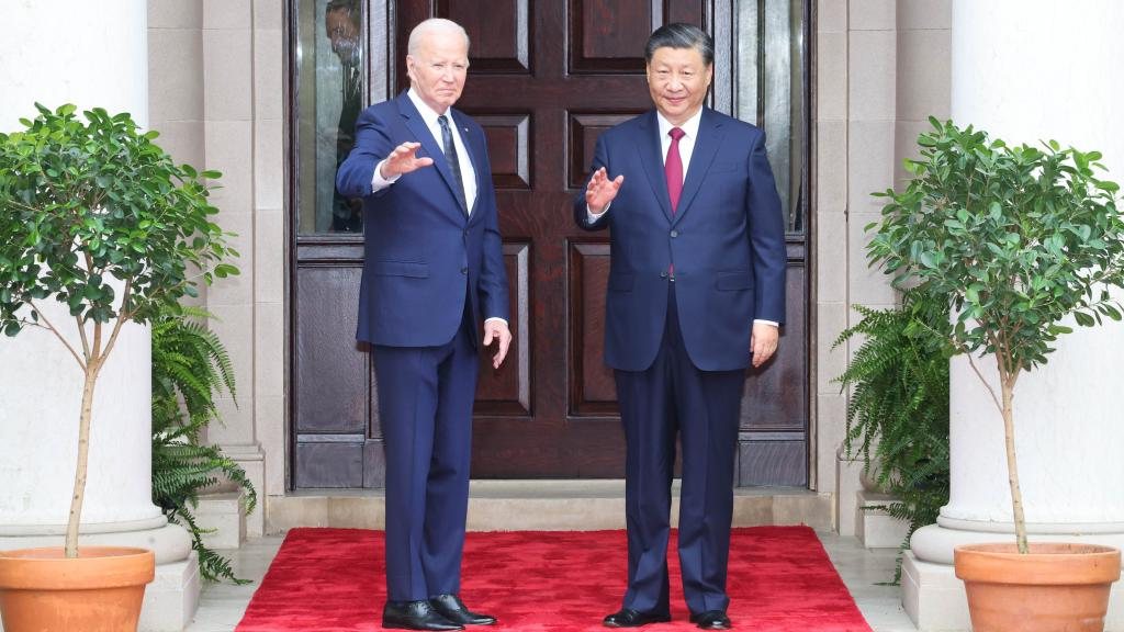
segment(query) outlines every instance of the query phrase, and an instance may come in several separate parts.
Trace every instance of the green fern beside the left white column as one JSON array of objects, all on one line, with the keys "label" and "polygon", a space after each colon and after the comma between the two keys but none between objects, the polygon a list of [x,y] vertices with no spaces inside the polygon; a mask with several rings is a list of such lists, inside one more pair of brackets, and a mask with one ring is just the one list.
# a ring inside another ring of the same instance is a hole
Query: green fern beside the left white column
[{"label": "green fern beside the left white column", "polygon": [[199,493],[230,480],[243,494],[246,513],[257,494],[245,470],[215,445],[201,442],[202,431],[218,419],[215,398],[224,390],[235,396],[234,367],[221,341],[203,323],[205,310],[175,306],[162,312],[152,326],[152,495],[169,521],[191,533],[200,574],[209,580],[229,579],[230,561],[209,549],[194,509]]}]

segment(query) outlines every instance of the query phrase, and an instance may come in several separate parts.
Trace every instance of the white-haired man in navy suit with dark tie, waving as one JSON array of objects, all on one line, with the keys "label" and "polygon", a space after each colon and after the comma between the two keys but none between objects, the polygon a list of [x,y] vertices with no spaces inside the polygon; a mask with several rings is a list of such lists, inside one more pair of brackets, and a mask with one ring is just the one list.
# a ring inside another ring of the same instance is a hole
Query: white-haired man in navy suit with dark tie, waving
[{"label": "white-haired man in navy suit with dark tie, waving", "polygon": [[462,630],[496,621],[459,593],[477,350],[497,341],[495,368],[507,355],[507,274],[484,134],[452,108],[469,37],[430,19],[408,46],[410,89],[359,117],[336,186],[363,198],[356,337],[373,347],[386,437],[382,625]]}]

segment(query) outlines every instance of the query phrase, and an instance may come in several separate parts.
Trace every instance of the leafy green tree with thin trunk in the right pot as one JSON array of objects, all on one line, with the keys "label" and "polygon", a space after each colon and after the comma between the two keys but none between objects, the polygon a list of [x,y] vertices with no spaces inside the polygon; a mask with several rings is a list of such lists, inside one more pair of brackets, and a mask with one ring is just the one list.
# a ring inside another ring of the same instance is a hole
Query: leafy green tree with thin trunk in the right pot
[{"label": "leafy green tree with thin trunk in the right pot", "polygon": [[[894,283],[948,296],[948,337],[987,387],[1004,423],[1018,551],[1028,551],[1012,403],[1019,376],[1046,362],[1062,319],[1091,326],[1121,318],[1109,288],[1124,287],[1124,218],[1099,152],[1008,146],[987,133],[931,118],[907,161],[906,190],[887,190],[868,245]],[[977,365],[990,356],[996,388]]]}]

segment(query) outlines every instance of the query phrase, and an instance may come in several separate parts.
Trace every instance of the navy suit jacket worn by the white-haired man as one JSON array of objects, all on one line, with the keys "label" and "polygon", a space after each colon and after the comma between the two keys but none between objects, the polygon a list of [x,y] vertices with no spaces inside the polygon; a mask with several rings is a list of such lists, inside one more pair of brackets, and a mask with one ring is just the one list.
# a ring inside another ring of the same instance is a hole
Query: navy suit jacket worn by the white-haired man
[{"label": "navy suit jacket worn by the white-haired man", "polygon": [[[445,154],[406,92],[363,110],[355,146],[336,173],[342,195],[363,198],[360,341],[445,344],[461,325],[465,296],[473,323],[508,318],[507,273],[483,129],[464,112],[450,111],[475,170],[471,215],[453,193]],[[434,164],[372,193],[374,168],[407,141],[422,143],[418,157],[429,156]],[[471,329],[479,343],[477,327]]]}]

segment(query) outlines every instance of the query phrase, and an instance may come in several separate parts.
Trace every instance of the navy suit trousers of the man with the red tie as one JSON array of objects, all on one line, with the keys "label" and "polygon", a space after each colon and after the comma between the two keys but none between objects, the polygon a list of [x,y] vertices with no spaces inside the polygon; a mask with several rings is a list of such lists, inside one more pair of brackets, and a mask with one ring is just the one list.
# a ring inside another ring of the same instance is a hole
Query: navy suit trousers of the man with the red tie
[{"label": "navy suit trousers of the man with the red tie", "polygon": [[674,282],[668,291],[668,315],[655,361],[643,371],[615,372],[627,450],[624,607],[669,611],[669,516],[678,434],[683,460],[679,507],[683,594],[692,613],[725,612],[734,451],[745,371],[695,367],[683,344]]}]

